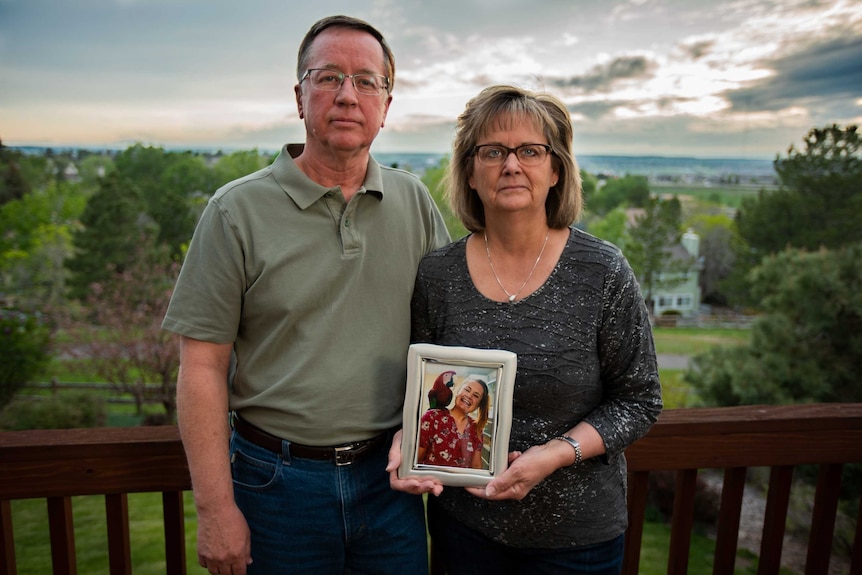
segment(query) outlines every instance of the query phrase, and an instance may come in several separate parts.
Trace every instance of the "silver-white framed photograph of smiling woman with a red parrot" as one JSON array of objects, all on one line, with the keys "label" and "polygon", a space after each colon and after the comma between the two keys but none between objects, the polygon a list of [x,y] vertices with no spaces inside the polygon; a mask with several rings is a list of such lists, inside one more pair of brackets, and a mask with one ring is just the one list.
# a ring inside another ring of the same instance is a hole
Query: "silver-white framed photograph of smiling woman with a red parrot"
[{"label": "silver-white framed photograph of smiling woman with a red parrot", "polygon": [[478,487],[505,471],[516,368],[510,351],[411,345],[398,476]]}]

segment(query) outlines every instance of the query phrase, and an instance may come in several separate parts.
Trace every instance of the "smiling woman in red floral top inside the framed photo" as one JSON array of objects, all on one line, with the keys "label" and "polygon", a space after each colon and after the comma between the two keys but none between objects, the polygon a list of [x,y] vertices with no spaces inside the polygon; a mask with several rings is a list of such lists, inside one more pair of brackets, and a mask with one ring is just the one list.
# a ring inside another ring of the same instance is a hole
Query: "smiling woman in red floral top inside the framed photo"
[{"label": "smiling woman in red floral top inside the framed photo", "polygon": [[[479,419],[470,414],[479,410]],[[482,468],[482,432],[488,422],[488,386],[469,379],[455,395],[451,409],[429,409],[419,423],[417,463]]]}]

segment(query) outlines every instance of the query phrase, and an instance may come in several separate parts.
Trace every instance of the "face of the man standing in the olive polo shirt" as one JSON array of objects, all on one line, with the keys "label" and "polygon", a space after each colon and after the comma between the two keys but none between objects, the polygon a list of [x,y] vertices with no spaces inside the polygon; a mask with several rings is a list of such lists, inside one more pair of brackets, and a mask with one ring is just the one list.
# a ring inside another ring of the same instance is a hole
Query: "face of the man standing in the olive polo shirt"
[{"label": "face of the man standing in the olive polo shirt", "polygon": [[[324,30],[312,44],[308,68],[343,74],[387,75],[383,48],[366,32],[350,28]],[[386,120],[392,96],[360,94],[350,78],[335,92],[316,90],[309,80],[296,85],[299,117],[305,120],[306,149],[355,152],[371,147]]]}]

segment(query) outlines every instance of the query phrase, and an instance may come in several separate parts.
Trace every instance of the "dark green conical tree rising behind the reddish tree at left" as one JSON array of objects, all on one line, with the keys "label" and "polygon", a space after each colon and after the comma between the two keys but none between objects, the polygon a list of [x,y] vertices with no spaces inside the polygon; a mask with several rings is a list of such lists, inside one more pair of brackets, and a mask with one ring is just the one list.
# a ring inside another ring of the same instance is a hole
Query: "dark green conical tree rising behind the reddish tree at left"
[{"label": "dark green conical tree rising behind the reddish tree at left", "polygon": [[73,298],[86,299],[91,284],[123,273],[147,227],[143,212],[135,185],[117,172],[105,176],[99,190],[87,201],[81,216],[82,228],[73,234],[75,253],[66,261]]}]

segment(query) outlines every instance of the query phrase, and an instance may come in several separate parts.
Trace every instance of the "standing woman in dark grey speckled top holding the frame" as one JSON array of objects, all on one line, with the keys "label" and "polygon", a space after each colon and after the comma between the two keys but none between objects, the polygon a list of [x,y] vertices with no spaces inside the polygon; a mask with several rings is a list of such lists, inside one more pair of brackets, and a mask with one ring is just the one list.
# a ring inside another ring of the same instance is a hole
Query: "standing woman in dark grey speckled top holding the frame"
[{"label": "standing woman in dark grey speckled top holding the frame", "polygon": [[661,388],[628,262],[572,227],[581,186],[565,105],[483,90],[458,119],[447,195],[472,233],[422,261],[412,339],[517,354],[510,465],[484,489],[391,483],[438,495],[429,531],[449,575],[619,573],[623,450],[656,421]]}]

